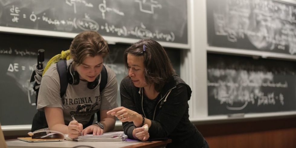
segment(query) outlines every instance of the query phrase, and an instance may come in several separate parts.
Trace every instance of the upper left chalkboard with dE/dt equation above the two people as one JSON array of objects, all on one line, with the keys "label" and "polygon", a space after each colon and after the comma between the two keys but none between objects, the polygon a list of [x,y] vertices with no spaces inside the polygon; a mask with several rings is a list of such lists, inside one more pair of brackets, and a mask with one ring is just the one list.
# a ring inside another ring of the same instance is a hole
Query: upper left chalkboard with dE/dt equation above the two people
[{"label": "upper left chalkboard with dE/dt equation above the two people", "polygon": [[0,0],[0,26],[188,45],[187,0]]}]

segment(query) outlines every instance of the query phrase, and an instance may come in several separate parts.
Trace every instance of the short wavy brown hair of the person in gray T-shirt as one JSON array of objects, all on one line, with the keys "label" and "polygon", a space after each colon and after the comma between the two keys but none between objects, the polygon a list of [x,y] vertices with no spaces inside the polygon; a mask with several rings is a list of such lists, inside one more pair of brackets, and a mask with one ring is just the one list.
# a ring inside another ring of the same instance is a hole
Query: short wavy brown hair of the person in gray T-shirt
[{"label": "short wavy brown hair of the person in gray T-shirt", "polygon": [[109,48],[104,38],[95,31],[83,31],[76,35],[70,45],[70,53],[74,65],[80,65],[87,57],[101,55],[103,58],[109,54]]}]

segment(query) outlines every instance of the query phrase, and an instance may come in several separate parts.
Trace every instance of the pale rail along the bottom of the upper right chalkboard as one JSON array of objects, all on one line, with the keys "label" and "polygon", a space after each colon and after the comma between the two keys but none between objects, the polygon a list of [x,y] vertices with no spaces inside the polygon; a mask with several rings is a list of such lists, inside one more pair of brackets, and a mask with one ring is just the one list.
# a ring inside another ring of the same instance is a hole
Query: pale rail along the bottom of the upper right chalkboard
[{"label": "pale rail along the bottom of the upper right chalkboard", "polygon": [[[273,0],[276,2],[282,2],[286,4],[296,5],[296,2],[293,0]],[[208,19],[206,17],[206,19]],[[289,55],[286,53],[275,53],[270,51],[256,51],[256,50],[248,50],[248,49],[239,49],[239,48],[228,48],[228,47],[215,47],[210,46],[208,44],[208,33],[207,33],[207,45],[206,50],[210,53],[223,53],[223,54],[231,54],[231,55],[245,55],[245,56],[253,56],[256,58],[271,58],[271,59],[286,59],[286,60],[296,60],[296,55]]]}]

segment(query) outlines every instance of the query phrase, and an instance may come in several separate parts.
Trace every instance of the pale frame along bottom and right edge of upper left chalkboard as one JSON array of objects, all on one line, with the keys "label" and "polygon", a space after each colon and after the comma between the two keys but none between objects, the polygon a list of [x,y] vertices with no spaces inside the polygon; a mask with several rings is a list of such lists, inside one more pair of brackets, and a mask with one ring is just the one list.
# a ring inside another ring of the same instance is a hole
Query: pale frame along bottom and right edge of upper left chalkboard
[{"label": "pale frame along bottom and right edge of upper left chalkboard", "polygon": [[[190,49],[191,47],[191,26],[190,26],[190,0],[187,2],[187,44],[185,43],[173,43],[158,41],[163,47],[172,47],[179,49]],[[16,28],[16,27],[5,27],[0,26],[0,32],[17,33],[17,34],[31,34],[37,36],[49,36],[49,37],[61,37],[61,38],[74,38],[78,33],[60,32],[60,31],[46,31],[46,30],[36,30],[36,29],[26,29],[26,28]],[[140,39],[128,38],[128,37],[112,37],[103,35],[104,39],[110,43],[135,43]]]}]

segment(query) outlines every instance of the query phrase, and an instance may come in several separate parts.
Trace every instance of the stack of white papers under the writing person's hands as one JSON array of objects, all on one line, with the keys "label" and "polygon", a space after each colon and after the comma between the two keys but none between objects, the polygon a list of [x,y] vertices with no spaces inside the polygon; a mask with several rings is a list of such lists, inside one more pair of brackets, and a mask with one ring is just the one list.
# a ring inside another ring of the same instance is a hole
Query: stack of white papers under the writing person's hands
[{"label": "stack of white papers under the writing person's hands", "polygon": [[119,132],[108,132],[102,135],[87,134],[85,136],[79,136],[76,138],[77,141],[124,141],[127,139],[127,135],[123,131]]}]

